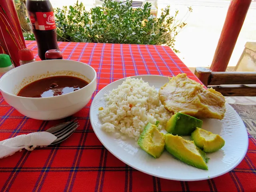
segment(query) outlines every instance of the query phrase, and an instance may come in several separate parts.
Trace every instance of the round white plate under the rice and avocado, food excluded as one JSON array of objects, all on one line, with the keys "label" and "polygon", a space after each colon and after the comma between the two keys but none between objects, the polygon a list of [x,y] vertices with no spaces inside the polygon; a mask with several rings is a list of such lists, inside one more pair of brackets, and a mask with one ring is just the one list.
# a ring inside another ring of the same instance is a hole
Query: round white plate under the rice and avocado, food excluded
[{"label": "round white plate under the rice and avocado, food excluded", "polygon": [[[143,75],[136,76],[136,78],[142,78],[150,86],[154,85],[157,90],[168,82],[168,77],[164,76]],[[240,117],[228,104],[226,104],[223,120],[203,120],[203,129],[219,134],[226,142],[221,150],[207,154],[210,158],[207,164],[208,170],[201,170],[176,160],[167,151],[164,151],[160,158],[155,159],[136,147],[134,139],[115,139],[112,134],[103,131],[102,123],[98,118],[98,108],[105,106],[101,98],[105,93],[117,88],[124,80],[125,78],[112,82],[100,90],[90,107],[90,121],[96,136],[108,151],[122,162],[152,176],[178,181],[196,181],[225,174],[242,161],[248,148],[248,134]],[[184,138],[189,139],[188,136]]]}]

